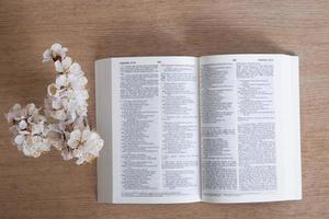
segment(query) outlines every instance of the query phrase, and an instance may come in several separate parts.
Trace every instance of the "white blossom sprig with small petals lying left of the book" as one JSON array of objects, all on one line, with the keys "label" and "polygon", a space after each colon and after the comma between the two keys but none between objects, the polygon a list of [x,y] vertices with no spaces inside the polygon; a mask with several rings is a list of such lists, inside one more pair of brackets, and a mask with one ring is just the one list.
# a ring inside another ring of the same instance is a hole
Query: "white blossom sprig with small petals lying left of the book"
[{"label": "white blossom sprig with small petals lying left of the book", "polygon": [[53,44],[43,55],[43,61],[53,60],[57,71],[55,83],[47,88],[45,116],[34,104],[23,108],[15,104],[5,116],[14,136],[13,145],[25,155],[37,158],[55,147],[65,160],[76,158],[76,163],[82,164],[99,155],[104,141],[90,130],[88,80],[67,51],[60,44]]}]

